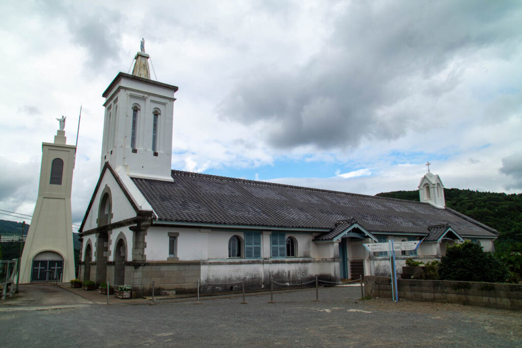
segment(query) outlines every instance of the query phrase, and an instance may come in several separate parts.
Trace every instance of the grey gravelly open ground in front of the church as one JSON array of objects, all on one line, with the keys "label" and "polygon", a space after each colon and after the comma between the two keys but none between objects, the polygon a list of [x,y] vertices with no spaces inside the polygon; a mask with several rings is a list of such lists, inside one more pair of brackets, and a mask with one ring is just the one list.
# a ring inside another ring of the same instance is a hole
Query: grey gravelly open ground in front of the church
[{"label": "grey gravelly open ground in front of the church", "polygon": [[263,294],[248,304],[0,308],[0,346],[522,346],[521,312],[359,296],[359,288],[334,287],[320,288],[319,302],[306,289],[276,293],[276,303]]}]

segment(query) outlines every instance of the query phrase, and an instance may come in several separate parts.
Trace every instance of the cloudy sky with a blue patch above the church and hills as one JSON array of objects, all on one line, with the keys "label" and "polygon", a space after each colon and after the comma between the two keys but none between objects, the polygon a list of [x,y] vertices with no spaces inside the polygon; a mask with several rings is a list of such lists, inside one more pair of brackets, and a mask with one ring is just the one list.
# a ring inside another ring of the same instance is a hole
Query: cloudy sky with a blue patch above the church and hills
[{"label": "cloudy sky with a blue patch above the church and hills", "polygon": [[0,11],[2,210],[32,214],[41,143],[65,115],[74,144],[82,105],[81,222],[100,170],[101,94],[142,37],[157,79],[180,88],[174,169],[376,194],[416,189],[430,161],[446,188],[522,192],[518,1],[21,0]]}]

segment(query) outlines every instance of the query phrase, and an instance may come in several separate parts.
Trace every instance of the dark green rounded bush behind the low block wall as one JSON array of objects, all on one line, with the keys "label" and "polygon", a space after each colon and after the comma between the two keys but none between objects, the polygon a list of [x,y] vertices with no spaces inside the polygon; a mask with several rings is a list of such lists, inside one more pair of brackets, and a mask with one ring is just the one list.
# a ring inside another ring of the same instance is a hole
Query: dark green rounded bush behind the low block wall
[{"label": "dark green rounded bush behind the low block wall", "polygon": [[493,254],[469,240],[448,246],[438,266],[441,279],[468,282],[505,282],[508,270]]}]

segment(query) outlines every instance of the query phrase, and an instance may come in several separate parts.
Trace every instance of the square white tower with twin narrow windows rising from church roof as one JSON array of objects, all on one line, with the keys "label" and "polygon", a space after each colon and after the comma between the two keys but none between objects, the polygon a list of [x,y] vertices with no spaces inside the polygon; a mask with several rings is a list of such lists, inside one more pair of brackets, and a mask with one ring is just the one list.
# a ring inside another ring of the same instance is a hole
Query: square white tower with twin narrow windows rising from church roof
[{"label": "square white tower with twin narrow windows rising from church roof", "polygon": [[141,39],[133,74],[119,73],[103,92],[105,121],[100,170],[105,162],[131,177],[172,181],[172,126],[176,86],[150,79]]}]

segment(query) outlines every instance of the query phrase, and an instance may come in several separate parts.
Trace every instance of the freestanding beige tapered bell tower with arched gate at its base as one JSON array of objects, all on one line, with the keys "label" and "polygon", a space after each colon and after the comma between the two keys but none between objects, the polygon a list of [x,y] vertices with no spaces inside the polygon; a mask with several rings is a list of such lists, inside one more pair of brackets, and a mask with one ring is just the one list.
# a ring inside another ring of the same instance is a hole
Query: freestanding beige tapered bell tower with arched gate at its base
[{"label": "freestanding beige tapered bell tower with arched gate at its base", "polygon": [[67,145],[65,118],[54,143],[42,143],[38,199],[20,262],[20,283],[75,279],[70,192],[76,146]]}]

